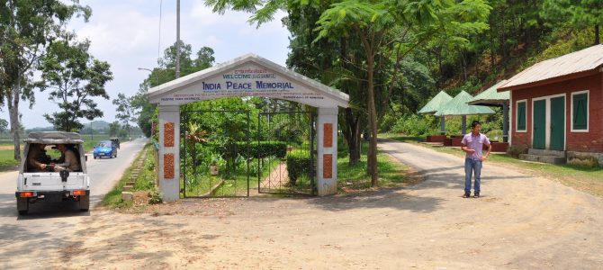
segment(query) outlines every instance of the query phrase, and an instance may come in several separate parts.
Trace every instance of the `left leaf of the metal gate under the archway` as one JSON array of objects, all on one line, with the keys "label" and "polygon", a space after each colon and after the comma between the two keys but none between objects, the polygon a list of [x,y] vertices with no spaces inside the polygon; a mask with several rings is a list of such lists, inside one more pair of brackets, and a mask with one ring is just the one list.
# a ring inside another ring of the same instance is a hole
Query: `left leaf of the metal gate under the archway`
[{"label": "left leaf of the metal gate under the archway", "polygon": [[181,195],[249,196],[249,112],[187,111],[180,115]]}]

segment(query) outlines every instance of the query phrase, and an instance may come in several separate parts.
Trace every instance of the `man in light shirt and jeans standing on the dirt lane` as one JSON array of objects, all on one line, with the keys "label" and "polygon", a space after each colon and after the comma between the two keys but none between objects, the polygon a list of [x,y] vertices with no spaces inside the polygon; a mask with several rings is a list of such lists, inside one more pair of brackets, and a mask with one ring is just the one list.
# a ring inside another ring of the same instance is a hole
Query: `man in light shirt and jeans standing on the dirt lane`
[{"label": "man in light shirt and jeans standing on the dirt lane", "polygon": [[[480,184],[482,182],[482,162],[490,156],[491,144],[486,135],[480,133],[482,123],[473,121],[471,123],[471,133],[465,134],[461,144],[461,149],[467,153],[464,157],[464,195],[463,198],[471,196],[471,175],[474,174],[475,184],[473,185],[473,198],[480,197]],[[486,146],[488,151],[482,156],[482,148]]]}]

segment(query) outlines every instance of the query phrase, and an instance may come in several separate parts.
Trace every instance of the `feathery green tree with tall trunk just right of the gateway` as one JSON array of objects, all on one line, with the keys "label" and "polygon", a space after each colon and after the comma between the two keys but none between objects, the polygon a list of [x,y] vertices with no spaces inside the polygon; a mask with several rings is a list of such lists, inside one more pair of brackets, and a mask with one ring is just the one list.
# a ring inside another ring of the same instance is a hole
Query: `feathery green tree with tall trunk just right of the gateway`
[{"label": "feathery green tree with tall trunk just right of the gateway", "polygon": [[[368,155],[368,171],[371,184],[378,184],[377,172],[377,110],[375,108],[375,75],[380,67],[379,58],[395,58],[389,94],[397,83],[398,71],[403,58],[419,45],[425,44],[438,32],[482,31],[490,6],[481,0],[455,1],[393,1],[366,2],[347,0],[332,4],[320,16],[318,22],[321,39],[339,39],[355,35],[365,49],[368,116],[371,141]],[[458,40],[463,40],[457,37]],[[375,73],[376,71],[376,73]]]}]

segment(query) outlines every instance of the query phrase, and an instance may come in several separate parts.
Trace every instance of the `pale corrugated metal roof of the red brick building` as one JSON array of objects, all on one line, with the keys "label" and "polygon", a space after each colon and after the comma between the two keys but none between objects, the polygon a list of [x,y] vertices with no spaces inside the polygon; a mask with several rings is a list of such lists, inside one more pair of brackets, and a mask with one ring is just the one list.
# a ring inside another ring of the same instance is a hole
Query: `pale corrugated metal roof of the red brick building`
[{"label": "pale corrugated metal roof of the red brick building", "polygon": [[499,89],[509,90],[507,88],[589,71],[601,65],[603,65],[603,45],[599,44],[536,63],[536,65],[528,67],[516,76],[511,77],[509,82],[500,86]]}]

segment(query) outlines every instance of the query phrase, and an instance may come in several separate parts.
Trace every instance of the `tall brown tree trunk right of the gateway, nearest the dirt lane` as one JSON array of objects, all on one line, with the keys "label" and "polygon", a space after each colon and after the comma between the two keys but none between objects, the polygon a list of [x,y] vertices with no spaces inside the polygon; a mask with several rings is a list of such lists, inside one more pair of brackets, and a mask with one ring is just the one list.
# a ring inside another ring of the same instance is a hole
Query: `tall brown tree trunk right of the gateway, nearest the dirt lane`
[{"label": "tall brown tree trunk right of the gateway, nearest the dirt lane", "polygon": [[379,184],[377,174],[377,112],[374,107],[374,55],[373,49],[367,49],[366,69],[368,73],[368,122],[371,128],[371,142],[368,148],[368,173],[371,175],[371,186]]}]

